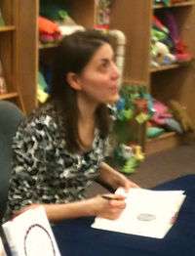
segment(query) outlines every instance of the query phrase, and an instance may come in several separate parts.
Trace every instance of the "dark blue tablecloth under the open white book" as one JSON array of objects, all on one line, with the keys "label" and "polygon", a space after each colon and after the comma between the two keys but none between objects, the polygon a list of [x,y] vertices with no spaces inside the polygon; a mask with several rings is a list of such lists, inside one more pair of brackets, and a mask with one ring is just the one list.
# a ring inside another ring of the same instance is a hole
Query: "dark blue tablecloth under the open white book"
[{"label": "dark blue tablecloth under the open white book", "polygon": [[53,227],[61,255],[195,255],[195,175],[178,178],[154,190],[184,190],[187,194],[176,224],[163,239],[92,229],[94,218],[67,220]]}]

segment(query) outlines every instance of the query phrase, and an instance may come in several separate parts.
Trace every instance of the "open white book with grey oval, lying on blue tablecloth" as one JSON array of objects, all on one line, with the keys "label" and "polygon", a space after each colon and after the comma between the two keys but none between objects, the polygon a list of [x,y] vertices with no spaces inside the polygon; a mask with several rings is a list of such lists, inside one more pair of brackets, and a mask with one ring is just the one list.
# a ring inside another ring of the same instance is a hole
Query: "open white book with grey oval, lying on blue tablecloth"
[{"label": "open white book with grey oval, lying on blue tablecloth", "polygon": [[183,191],[131,189],[127,193],[126,208],[117,220],[97,217],[92,227],[163,238],[174,224],[174,219],[186,196],[183,193]]}]

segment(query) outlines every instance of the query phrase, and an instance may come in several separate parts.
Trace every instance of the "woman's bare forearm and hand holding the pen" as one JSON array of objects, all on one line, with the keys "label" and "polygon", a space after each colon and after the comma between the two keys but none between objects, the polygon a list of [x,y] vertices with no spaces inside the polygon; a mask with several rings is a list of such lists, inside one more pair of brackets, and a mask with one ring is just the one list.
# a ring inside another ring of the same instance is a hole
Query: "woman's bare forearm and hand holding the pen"
[{"label": "woman's bare forearm and hand holding the pen", "polygon": [[106,194],[112,199],[104,199],[100,195],[77,202],[62,204],[31,204],[15,212],[13,217],[20,213],[44,206],[48,219],[52,222],[59,222],[63,219],[74,219],[87,216],[98,216],[106,219],[117,219],[125,208],[125,197],[119,194]]}]

